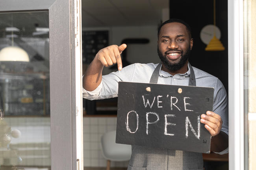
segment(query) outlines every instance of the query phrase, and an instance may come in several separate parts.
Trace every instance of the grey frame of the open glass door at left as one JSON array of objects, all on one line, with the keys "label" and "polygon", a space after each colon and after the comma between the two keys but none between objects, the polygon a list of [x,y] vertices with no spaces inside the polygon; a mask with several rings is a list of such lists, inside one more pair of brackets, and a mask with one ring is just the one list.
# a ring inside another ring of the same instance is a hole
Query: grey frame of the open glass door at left
[{"label": "grey frame of the open glass door at left", "polygon": [[[82,97],[78,100],[76,96],[82,91],[82,66],[77,66],[81,55],[76,54],[75,48],[75,41],[81,48],[81,40],[75,36],[75,0],[1,0],[0,4],[0,12],[49,11],[51,169],[76,170],[77,159],[83,167],[83,152],[77,155],[83,124]],[[80,127],[76,126],[76,119]],[[76,129],[80,130],[79,140]]]}]

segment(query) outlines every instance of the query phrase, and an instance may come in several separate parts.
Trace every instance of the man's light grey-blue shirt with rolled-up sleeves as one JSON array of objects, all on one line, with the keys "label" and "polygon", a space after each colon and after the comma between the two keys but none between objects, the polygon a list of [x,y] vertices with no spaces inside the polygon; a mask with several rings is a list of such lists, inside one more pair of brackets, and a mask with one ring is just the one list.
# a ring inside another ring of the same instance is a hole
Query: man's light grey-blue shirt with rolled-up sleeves
[{"label": "man's light grey-blue shirt with rolled-up sleeves", "polygon": [[[157,65],[158,64],[153,64],[153,63],[148,63],[148,64],[135,63],[135,64],[131,64],[129,66],[124,67],[121,71],[112,72],[108,75],[104,75],[102,76],[102,82],[94,91],[86,91],[85,89],[83,89],[83,97],[89,100],[117,97],[119,81],[149,83],[150,77]],[[197,86],[214,88],[213,112],[221,116],[223,120],[221,131],[228,134],[228,107],[227,107],[228,100],[227,100],[226,90],[222,82],[217,77],[214,77],[213,75],[210,75],[200,69],[197,69],[195,67],[193,67],[193,69],[195,72]],[[158,84],[188,86],[189,75],[190,75],[189,67],[186,73],[176,74],[174,76],[160,69]],[[139,147],[139,146],[136,146],[136,147]],[[151,148],[151,151],[149,151],[149,149],[141,147],[140,150],[143,150],[143,152],[147,153],[147,152],[152,152],[153,149]],[[156,152],[160,152],[160,153],[162,152],[164,154],[165,151],[166,150],[161,149],[161,150],[157,150]],[[133,152],[136,152],[134,147],[133,147]],[[143,154],[143,152],[141,152],[141,154]],[[178,151],[176,151],[176,155],[178,155],[177,152]],[[182,153],[183,159],[186,153],[188,154],[190,152],[183,152]],[[226,154],[226,153],[228,153],[228,148],[218,154]],[[170,153],[167,152],[166,154],[168,155]],[[174,155],[175,155],[175,152],[174,152]],[[130,165],[131,165],[131,161],[130,161]]]}]

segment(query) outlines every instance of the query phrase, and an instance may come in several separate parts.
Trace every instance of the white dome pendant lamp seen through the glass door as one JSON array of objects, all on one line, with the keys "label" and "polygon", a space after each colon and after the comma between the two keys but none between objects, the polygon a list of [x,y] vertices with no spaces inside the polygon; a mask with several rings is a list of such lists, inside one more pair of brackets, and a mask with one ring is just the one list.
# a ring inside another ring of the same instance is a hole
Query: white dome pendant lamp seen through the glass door
[{"label": "white dome pendant lamp seen through the glass door", "polygon": [[0,61],[29,62],[28,53],[17,46],[8,46],[0,51]]}]

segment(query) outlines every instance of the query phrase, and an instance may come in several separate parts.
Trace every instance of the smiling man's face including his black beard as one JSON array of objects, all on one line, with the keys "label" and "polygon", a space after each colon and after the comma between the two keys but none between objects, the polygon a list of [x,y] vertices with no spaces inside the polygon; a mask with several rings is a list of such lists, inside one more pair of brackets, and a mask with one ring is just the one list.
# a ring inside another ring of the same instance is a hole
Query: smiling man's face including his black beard
[{"label": "smiling man's face including his black beard", "polygon": [[171,22],[161,27],[158,37],[158,55],[165,68],[177,71],[187,62],[193,39],[184,24]]}]

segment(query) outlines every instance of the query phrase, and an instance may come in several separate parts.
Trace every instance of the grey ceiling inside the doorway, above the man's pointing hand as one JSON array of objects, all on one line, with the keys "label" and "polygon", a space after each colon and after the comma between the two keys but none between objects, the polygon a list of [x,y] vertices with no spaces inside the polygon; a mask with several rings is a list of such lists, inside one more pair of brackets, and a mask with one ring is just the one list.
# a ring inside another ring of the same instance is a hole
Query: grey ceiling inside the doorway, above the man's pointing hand
[{"label": "grey ceiling inside the doorway, above the man's pointing hand", "polygon": [[82,0],[82,27],[158,25],[169,0]]}]

